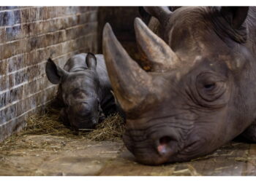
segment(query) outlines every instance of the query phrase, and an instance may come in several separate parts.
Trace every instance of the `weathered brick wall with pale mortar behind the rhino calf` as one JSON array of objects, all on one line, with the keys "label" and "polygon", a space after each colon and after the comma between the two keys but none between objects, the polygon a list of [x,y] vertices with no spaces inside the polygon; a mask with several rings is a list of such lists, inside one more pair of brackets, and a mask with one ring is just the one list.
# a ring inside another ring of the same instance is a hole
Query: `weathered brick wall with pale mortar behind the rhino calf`
[{"label": "weathered brick wall with pale mortar behind the rhino calf", "polygon": [[97,7],[0,7],[0,141],[53,99],[51,57],[97,52]]}]

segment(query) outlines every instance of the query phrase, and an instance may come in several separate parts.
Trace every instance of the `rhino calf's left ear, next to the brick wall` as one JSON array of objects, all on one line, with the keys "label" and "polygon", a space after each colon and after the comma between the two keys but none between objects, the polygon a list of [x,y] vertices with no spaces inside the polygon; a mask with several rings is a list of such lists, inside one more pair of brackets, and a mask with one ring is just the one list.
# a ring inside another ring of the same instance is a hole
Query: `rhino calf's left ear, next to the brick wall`
[{"label": "rhino calf's left ear, next to the brick wall", "polygon": [[56,64],[48,59],[45,66],[46,76],[52,84],[59,84],[61,82],[61,78],[67,76],[68,72],[64,69],[59,68]]}]

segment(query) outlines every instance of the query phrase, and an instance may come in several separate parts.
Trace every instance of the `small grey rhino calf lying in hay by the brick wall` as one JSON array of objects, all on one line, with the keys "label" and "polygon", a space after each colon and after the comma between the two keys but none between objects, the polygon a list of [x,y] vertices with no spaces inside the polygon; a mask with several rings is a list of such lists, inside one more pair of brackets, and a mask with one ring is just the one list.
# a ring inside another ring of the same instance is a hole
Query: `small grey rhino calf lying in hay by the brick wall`
[{"label": "small grey rhino calf lying in hay by the brick wall", "polygon": [[67,60],[64,69],[48,60],[46,74],[59,84],[57,98],[64,108],[61,120],[76,129],[91,129],[116,111],[103,55],[79,54]]}]

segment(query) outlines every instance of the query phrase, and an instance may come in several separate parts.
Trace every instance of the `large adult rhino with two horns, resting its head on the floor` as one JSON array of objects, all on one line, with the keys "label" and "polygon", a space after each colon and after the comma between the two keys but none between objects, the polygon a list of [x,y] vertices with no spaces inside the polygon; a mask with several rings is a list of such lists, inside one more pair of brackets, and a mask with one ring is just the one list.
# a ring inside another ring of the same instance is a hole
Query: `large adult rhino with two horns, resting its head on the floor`
[{"label": "large adult rhino with two horns, resting its head on the floor", "polygon": [[109,24],[103,32],[110,82],[127,116],[127,149],[138,162],[159,165],[209,154],[241,133],[255,142],[256,8],[145,9],[158,20],[149,23],[157,36],[135,19],[149,71]]}]

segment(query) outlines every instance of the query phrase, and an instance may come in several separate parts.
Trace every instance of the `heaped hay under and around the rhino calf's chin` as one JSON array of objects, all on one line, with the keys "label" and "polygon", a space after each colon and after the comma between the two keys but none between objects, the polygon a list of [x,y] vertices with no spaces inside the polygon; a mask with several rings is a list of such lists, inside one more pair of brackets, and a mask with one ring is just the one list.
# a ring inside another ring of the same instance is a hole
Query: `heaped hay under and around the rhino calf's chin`
[{"label": "heaped hay under and around the rhino calf's chin", "polygon": [[86,138],[91,141],[120,140],[124,131],[124,120],[112,114],[94,130],[73,130],[59,121],[59,110],[48,107],[44,114],[34,115],[26,121],[25,129],[19,135],[58,135],[69,138]]}]

